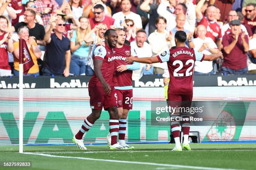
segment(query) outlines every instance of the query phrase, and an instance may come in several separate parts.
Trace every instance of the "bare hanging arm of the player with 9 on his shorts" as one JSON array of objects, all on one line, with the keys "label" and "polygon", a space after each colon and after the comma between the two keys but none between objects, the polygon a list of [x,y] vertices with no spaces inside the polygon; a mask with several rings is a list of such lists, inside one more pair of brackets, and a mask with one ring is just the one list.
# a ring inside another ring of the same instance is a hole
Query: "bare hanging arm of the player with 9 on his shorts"
[{"label": "bare hanging arm of the player with 9 on his shorts", "polygon": [[97,78],[102,83],[104,92],[107,93],[107,94],[110,94],[110,92],[111,92],[110,85],[105,81],[105,79],[103,78],[102,72],[100,70],[100,68],[102,66],[102,63],[103,63],[103,60],[95,58],[95,60],[94,60],[94,72],[95,72],[95,75],[97,76]]}]

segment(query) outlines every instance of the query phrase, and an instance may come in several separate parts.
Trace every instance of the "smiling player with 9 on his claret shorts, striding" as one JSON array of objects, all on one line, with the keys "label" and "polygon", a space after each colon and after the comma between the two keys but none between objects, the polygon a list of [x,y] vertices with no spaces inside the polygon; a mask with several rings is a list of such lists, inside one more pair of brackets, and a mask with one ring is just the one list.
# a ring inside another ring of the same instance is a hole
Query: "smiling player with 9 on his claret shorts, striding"
[{"label": "smiling player with 9 on his claret shorts, striding", "polygon": [[78,148],[86,150],[82,137],[94,122],[100,117],[102,107],[108,110],[110,120],[111,143],[110,149],[126,149],[117,143],[119,131],[117,95],[113,86],[113,74],[115,72],[113,48],[116,45],[118,35],[113,29],[109,29],[104,34],[105,47],[98,45],[94,50],[94,74],[89,81],[88,90],[90,95],[90,106],[92,113],[84,120],[82,128],[74,135],[73,142]]}]

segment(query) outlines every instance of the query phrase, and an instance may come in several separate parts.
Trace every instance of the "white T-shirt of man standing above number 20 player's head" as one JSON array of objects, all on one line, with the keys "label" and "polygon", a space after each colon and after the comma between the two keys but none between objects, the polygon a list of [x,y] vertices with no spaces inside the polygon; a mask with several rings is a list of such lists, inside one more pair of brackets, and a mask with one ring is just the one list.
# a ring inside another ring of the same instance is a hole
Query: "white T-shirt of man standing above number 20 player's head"
[{"label": "white T-shirt of man standing above number 20 player's head", "polygon": [[114,18],[116,21],[118,21],[119,23],[122,21],[124,21],[125,19],[131,19],[134,22],[134,25],[136,26],[136,28],[142,28],[142,21],[141,21],[141,16],[136,14],[136,13],[129,13],[128,15],[124,15],[123,12],[118,12],[115,13],[112,18]]}]

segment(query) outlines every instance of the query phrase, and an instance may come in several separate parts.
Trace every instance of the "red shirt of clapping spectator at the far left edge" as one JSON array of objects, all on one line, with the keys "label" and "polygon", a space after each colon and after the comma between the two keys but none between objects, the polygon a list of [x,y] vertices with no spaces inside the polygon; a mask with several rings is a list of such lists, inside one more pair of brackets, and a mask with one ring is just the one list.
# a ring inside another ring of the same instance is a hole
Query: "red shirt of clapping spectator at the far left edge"
[{"label": "red shirt of clapping spectator at the far left edge", "polygon": [[[3,40],[5,33],[0,35],[0,40]],[[4,42],[0,45],[0,69],[10,70],[8,51],[7,51],[7,42]]]}]

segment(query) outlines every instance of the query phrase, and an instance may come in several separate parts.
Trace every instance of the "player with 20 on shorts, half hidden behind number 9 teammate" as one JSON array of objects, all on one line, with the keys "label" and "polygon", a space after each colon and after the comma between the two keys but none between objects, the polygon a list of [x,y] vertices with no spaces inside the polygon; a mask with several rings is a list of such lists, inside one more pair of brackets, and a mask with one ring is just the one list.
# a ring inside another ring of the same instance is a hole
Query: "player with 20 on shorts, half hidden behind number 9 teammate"
[{"label": "player with 20 on shorts, half hidden behind number 9 teammate", "polygon": [[[118,39],[116,47],[113,49],[115,56],[115,68],[113,82],[116,89],[118,100],[118,117],[119,117],[119,144],[127,149],[133,149],[133,146],[125,143],[126,120],[128,112],[133,107],[133,84],[132,84],[132,70],[140,69],[140,63],[133,62],[132,65],[125,62],[126,57],[137,56],[135,49],[130,45],[124,44],[125,32],[122,28],[116,28]],[[111,143],[110,133],[107,137],[108,145]]]}]

